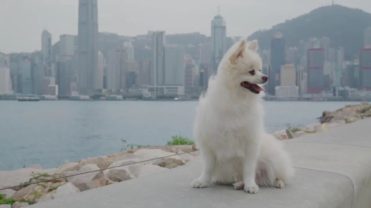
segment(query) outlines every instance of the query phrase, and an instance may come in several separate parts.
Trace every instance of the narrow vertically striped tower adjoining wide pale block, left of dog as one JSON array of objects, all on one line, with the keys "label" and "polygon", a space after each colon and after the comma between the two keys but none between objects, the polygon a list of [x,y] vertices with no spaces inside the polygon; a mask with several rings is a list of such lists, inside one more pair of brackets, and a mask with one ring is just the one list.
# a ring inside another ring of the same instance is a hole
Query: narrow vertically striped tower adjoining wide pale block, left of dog
[{"label": "narrow vertically striped tower adjoining wide pale block, left of dog", "polygon": [[151,85],[165,84],[165,31],[155,31],[152,34],[153,70]]}]

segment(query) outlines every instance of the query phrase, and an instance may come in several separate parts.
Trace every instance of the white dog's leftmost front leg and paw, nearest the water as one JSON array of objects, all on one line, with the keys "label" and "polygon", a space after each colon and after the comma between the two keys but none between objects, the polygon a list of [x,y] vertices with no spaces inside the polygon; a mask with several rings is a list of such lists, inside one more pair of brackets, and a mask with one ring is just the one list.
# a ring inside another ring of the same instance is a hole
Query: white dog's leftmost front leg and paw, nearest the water
[{"label": "white dog's leftmost front leg and paw, nearest the water", "polygon": [[211,177],[216,166],[216,157],[215,154],[211,151],[203,150],[201,151],[201,160],[202,160],[202,173],[200,177],[192,182],[192,187],[194,188],[204,188],[208,187],[211,182]]}]

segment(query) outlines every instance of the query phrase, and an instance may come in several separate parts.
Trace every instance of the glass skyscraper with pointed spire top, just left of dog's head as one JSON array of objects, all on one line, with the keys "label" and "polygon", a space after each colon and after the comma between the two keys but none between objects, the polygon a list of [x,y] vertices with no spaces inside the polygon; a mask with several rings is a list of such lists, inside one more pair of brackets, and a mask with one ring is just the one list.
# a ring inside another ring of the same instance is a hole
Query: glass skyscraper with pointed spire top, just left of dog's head
[{"label": "glass skyscraper with pointed spire top, just left of dog's head", "polygon": [[[226,53],[226,21],[218,12],[211,20],[211,69],[217,73],[219,63]],[[209,74],[211,76],[211,74]]]}]

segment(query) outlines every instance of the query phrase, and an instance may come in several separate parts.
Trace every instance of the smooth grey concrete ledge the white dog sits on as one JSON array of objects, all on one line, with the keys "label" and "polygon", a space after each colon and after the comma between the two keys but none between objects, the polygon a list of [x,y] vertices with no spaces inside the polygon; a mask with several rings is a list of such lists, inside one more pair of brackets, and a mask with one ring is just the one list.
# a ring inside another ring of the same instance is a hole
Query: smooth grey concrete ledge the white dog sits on
[{"label": "smooth grey concrete ledge the white dog sits on", "polygon": [[371,205],[371,120],[285,141],[296,176],[284,189],[261,188],[258,194],[214,185],[190,186],[200,161],[31,205],[69,207],[254,207],[365,208]]}]

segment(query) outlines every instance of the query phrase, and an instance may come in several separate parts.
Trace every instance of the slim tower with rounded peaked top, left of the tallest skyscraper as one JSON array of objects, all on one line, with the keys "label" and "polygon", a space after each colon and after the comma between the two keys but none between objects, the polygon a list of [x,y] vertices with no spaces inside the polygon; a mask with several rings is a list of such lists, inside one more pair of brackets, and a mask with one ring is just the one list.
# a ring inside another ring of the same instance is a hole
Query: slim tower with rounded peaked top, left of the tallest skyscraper
[{"label": "slim tower with rounded peaked top, left of the tallest skyscraper", "polygon": [[53,75],[52,71],[52,34],[48,31],[43,30],[41,33],[41,51],[42,51],[42,62],[45,70],[45,76],[51,77]]}]

